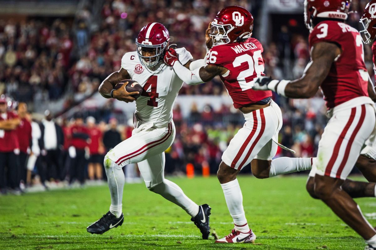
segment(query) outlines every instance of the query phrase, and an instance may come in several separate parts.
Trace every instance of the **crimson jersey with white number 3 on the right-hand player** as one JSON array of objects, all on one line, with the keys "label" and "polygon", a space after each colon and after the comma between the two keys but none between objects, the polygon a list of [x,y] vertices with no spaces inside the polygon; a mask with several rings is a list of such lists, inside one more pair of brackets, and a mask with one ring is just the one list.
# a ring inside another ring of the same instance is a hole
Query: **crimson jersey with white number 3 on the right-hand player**
[{"label": "crimson jersey with white number 3 on the right-hand player", "polygon": [[321,84],[327,108],[356,97],[368,96],[368,72],[359,31],[343,22],[323,21],[309,34],[310,48],[318,42],[335,43],[342,49]]}]

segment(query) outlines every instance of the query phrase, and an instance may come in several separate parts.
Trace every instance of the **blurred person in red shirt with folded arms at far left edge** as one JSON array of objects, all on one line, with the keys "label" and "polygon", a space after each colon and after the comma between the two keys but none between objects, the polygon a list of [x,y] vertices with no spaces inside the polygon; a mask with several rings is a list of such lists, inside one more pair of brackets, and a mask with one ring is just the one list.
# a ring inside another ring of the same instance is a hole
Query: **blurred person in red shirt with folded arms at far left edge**
[{"label": "blurred person in red shirt with folded arms at far left edge", "polygon": [[17,127],[20,119],[8,111],[5,96],[0,96],[0,190],[6,193],[6,187],[11,192],[20,195],[18,183],[18,156],[20,146],[17,139]]}]

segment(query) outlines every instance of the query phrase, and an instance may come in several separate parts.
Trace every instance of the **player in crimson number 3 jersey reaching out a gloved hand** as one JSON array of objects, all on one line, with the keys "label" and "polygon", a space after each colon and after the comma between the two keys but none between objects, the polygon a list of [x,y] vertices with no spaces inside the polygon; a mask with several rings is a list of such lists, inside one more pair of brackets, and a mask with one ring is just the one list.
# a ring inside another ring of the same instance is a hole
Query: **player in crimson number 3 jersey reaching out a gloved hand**
[{"label": "player in crimson number 3 jersey reaching out a gloved hand", "polygon": [[[290,98],[310,98],[321,87],[330,120],[312,166],[314,195],[367,241],[366,249],[376,249],[376,231],[341,189],[364,145],[374,144],[371,137],[375,131],[375,106],[368,96],[370,84],[362,38],[344,23],[349,5],[350,1],[343,0],[305,0],[311,61],[303,76],[294,81],[261,76],[254,89],[273,90]],[[369,92],[374,94],[373,90]]]}]

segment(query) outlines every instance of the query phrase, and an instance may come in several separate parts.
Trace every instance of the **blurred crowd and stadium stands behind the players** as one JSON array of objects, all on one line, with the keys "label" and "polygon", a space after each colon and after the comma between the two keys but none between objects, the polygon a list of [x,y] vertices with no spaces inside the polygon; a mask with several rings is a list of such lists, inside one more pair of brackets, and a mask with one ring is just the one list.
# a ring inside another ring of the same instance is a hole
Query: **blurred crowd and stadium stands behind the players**
[{"label": "blurred crowd and stadium stands behind the players", "polygon": [[[352,10],[361,12],[367,2],[353,0]],[[255,18],[253,36],[264,46],[266,75],[276,79],[301,76],[309,61],[302,0],[0,0],[0,95],[5,94],[9,109],[26,102],[36,122],[49,109],[65,138],[79,115],[94,117],[102,133],[115,118],[118,132],[126,139],[132,130],[129,121],[134,104],[104,99],[97,89],[106,76],[120,69],[123,54],[135,51],[139,30],[148,22],[161,22],[170,31],[172,43],[184,46],[194,59],[203,58],[208,23],[222,7],[234,4],[246,7]],[[352,13],[349,18],[358,29],[359,17]],[[374,79],[370,47],[364,50]],[[280,142],[296,150],[296,157],[315,156],[326,124],[321,93],[309,100],[278,96],[274,100],[283,114]],[[191,163],[196,175],[201,175],[203,166],[215,174],[222,152],[243,126],[244,117],[215,78],[207,84],[183,85],[174,122],[177,136],[166,151],[166,174],[185,175]],[[68,147],[69,141],[59,156],[67,179],[68,169],[76,168]],[[277,156],[289,154],[279,150]],[[33,169],[33,177],[43,174],[53,183],[53,170],[40,157],[37,164],[42,166]]]}]

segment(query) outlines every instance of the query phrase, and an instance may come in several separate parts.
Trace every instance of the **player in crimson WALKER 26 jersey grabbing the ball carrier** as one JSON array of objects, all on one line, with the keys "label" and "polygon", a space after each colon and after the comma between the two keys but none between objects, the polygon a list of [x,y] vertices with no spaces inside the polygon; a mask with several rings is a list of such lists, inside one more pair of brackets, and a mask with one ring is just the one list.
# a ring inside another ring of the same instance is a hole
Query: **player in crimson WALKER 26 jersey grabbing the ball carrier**
[{"label": "player in crimson WALKER 26 jersey grabbing the ball carrier", "polygon": [[[218,12],[206,31],[208,53],[205,60],[190,63],[190,70],[169,49],[165,63],[190,85],[200,84],[220,76],[235,108],[244,113],[246,123],[222,156],[218,169],[227,207],[235,227],[216,243],[252,243],[255,234],[250,230],[243,209],[243,197],[237,180],[240,170],[252,164],[257,178],[311,169],[312,158],[281,157],[272,160],[277,150],[277,136],[282,127],[282,114],[271,100],[271,91],[255,91],[253,79],[264,76],[263,48],[252,38],[253,17],[239,6],[229,6]],[[283,147],[283,146],[282,146]]]}]

